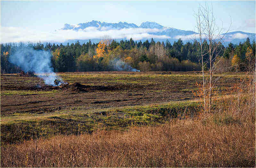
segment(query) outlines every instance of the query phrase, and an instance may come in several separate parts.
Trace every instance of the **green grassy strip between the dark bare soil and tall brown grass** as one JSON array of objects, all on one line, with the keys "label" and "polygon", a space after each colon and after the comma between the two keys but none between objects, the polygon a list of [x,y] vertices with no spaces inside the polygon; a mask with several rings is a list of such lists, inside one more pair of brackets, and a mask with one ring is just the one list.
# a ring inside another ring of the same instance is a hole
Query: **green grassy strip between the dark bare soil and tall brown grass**
[{"label": "green grassy strip between the dark bare soil and tall brown grass", "polygon": [[54,135],[78,135],[98,129],[127,130],[130,126],[159,125],[172,118],[193,116],[199,103],[179,103],[158,106],[137,106],[103,111],[52,114],[30,120],[1,124],[1,142],[17,143],[23,140]]}]

